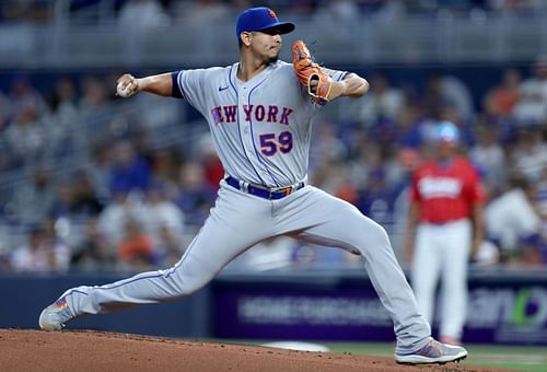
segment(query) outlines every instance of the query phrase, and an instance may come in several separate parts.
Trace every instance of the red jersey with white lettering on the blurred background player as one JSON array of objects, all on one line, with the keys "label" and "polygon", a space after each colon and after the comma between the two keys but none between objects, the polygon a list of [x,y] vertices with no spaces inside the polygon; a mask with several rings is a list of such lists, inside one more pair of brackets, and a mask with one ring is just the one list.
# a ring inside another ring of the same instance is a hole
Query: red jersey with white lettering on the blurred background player
[{"label": "red jersey with white lettering on the blurred background player", "polygon": [[420,221],[444,223],[472,217],[472,207],[482,202],[485,190],[477,171],[465,158],[447,164],[430,161],[412,176],[410,199],[420,206]]}]

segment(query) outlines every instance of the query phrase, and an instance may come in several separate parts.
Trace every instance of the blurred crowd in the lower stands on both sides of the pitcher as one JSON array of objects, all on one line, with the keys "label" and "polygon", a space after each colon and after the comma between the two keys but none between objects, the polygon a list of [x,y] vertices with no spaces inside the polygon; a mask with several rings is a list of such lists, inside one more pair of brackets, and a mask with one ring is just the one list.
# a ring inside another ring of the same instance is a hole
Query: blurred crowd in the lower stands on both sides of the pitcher
[{"label": "blurred crowd in the lower stands on both sides of the pitcher", "polygon": [[[188,124],[183,101],[116,97],[115,77],[61,77],[38,89],[16,75],[0,90],[0,271],[167,267],[207,218],[223,170],[206,125]],[[455,75],[431,74],[421,86],[366,78],[364,98],[327,105],[315,120],[311,184],[385,225],[397,249],[411,172],[435,124],[453,121],[489,194],[477,265],[547,264],[547,60],[507,69],[478,100]],[[282,239],[236,264],[356,263]]]}]

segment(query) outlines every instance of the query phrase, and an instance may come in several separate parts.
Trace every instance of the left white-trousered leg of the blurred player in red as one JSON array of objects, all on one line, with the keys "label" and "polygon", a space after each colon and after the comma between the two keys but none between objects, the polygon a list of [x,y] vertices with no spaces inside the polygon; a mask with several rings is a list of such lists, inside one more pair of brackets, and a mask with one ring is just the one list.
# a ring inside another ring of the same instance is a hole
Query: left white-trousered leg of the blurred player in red
[{"label": "left white-trousered leg of the blurred player in red", "polygon": [[442,251],[437,246],[435,239],[438,236],[430,226],[420,225],[416,234],[412,261],[412,289],[416,301],[418,309],[430,324],[433,322],[435,289],[442,265]]}]

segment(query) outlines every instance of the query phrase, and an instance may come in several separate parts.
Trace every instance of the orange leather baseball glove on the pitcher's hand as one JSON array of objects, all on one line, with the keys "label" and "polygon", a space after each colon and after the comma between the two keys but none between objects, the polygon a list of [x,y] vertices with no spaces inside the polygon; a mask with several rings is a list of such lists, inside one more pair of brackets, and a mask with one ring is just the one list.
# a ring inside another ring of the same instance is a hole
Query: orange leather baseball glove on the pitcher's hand
[{"label": "orange leather baseball glove on the pitcher's hand", "polygon": [[[312,54],[302,40],[292,43],[292,66],[300,82],[307,88],[307,93],[314,97],[315,102],[319,105],[326,104],[333,86],[333,78],[313,61]],[[317,84],[312,86],[312,81],[316,81]]]}]

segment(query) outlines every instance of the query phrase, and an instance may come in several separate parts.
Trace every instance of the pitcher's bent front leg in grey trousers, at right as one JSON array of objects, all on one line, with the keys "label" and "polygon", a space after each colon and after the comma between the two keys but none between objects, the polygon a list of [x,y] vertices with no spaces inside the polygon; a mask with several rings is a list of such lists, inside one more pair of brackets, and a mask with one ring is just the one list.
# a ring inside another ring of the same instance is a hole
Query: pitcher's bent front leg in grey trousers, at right
[{"label": "pitcher's bent front leg in grey trousers, at right", "polygon": [[300,202],[287,205],[290,210],[279,213],[279,231],[296,232],[296,237],[361,254],[371,282],[394,322],[397,352],[424,346],[431,335],[430,326],[418,311],[385,230],[352,205],[317,188],[306,187],[290,197]]}]

